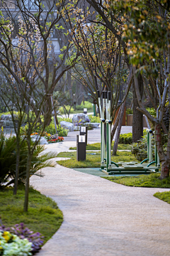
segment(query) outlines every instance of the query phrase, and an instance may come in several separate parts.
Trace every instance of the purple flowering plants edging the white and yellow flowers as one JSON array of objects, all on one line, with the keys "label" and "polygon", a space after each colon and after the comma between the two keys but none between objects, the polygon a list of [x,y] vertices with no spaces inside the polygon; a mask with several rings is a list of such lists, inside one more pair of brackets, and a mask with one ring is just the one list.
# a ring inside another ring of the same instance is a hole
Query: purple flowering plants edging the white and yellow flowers
[{"label": "purple flowering plants edging the white and yellow flowers", "polygon": [[29,228],[26,228],[26,225],[24,225],[23,223],[16,224],[14,228],[5,228],[5,226],[2,225],[0,227],[0,233],[3,232],[11,234],[6,236],[6,238],[8,237],[9,241],[11,241],[11,237],[13,236],[12,234],[17,235],[17,237],[21,238],[22,240],[27,239],[29,242],[31,242],[31,252],[33,254],[40,250],[44,242],[44,237],[39,232],[33,233],[33,231],[29,230]]}]

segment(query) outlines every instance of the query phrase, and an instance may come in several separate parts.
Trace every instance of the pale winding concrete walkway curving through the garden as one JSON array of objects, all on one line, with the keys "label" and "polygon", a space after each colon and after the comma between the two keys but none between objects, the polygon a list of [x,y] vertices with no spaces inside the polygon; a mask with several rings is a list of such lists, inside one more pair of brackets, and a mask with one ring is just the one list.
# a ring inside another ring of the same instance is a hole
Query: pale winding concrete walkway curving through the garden
[{"label": "pale winding concrete walkway curving through the garden", "polygon": [[57,202],[64,222],[39,256],[170,255],[170,205],[153,196],[169,189],[122,186],[58,164],[42,173],[30,184]]}]

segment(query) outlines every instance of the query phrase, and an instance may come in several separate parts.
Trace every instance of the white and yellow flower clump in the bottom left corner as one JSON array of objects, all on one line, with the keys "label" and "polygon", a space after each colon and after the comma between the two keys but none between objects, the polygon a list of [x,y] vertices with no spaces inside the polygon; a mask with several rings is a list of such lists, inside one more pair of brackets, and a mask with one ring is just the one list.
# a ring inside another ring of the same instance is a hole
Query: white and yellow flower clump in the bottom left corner
[{"label": "white and yellow flower clump in the bottom left corner", "polygon": [[0,231],[0,255],[27,256],[32,255],[32,243],[28,239],[18,238],[9,231]]}]

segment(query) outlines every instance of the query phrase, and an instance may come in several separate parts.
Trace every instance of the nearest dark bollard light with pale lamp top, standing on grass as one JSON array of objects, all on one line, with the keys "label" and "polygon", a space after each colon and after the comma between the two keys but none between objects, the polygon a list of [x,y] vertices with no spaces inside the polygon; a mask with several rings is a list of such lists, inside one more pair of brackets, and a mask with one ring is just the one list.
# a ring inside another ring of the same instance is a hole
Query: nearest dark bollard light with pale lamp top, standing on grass
[{"label": "nearest dark bollard light with pale lamp top, standing on grass", "polygon": [[77,135],[77,161],[86,160],[86,135]]}]

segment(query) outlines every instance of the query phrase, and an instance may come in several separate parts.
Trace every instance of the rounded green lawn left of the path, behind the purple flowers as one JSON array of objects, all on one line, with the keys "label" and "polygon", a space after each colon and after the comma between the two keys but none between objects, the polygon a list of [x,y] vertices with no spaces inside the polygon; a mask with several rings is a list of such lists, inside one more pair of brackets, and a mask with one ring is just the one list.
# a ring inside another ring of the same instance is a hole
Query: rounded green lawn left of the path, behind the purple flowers
[{"label": "rounded green lawn left of the path, behind the purple flowers", "polygon": [[13,196],[12,188],[0,191],[0,213],[2,223],[7,227],[24,223],[30,230],[45,236],[45,242],[60,228],[62,211],[55,201],[30,188],[28,213],[23,212],[24,189],[18,189]]}]

